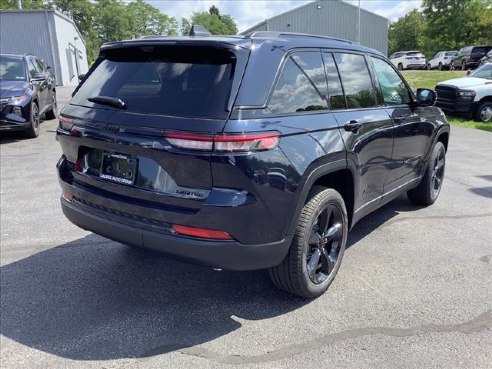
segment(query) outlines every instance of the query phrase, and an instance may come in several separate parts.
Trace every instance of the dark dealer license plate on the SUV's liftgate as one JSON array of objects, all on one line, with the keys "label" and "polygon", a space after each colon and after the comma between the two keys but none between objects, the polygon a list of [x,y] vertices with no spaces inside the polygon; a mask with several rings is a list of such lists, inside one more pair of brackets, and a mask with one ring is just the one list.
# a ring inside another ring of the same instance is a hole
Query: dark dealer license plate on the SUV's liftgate
[{"label": "dark dealer license plate on the SUV's liftgate", "polygon": [[138,160],[121,154],[103,153],[100,178],[123,184],[133,184]]}]

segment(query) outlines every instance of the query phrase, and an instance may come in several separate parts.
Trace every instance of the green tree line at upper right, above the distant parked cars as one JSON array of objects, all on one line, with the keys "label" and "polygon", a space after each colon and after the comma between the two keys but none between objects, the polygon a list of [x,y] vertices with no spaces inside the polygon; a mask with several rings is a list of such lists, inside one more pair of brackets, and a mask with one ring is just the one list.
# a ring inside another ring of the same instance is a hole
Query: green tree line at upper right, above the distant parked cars
[{"label": "green tree line at upper right, above the distant parked cars", "polygon": [[389,28],[389,52],[421,50],[428,58],[442,50],[492,44],[492,0],[423,0]]}]

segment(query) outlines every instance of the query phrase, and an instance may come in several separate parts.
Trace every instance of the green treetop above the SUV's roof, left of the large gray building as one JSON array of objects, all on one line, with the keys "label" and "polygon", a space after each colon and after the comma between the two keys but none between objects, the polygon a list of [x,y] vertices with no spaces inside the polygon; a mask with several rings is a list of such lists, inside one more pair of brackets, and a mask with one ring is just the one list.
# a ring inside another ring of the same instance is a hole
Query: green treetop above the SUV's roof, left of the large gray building
[{"label": "green treetop above the SUV's roof, left of the large gray building", "polygon": [[238,31],[232,17],[220,14],[219,9],[214,5],[208,12],[194,12],[190,20],[183,18],[183,34],[188,34],[193,24],[205,27],[213,35],[235,35]]}]

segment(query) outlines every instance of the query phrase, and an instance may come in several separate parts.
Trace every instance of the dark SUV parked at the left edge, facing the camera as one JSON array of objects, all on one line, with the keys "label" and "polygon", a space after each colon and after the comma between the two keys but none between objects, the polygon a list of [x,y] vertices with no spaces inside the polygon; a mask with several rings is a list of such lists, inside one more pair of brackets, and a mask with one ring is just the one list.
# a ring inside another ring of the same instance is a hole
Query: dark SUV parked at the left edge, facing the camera
[{"label": "dark SUV parked at the left edge, facing the camera", "polygon": [[56,118],[56,80],[34,55],[0,55],[0,131],[39,135],[41,116]]}]

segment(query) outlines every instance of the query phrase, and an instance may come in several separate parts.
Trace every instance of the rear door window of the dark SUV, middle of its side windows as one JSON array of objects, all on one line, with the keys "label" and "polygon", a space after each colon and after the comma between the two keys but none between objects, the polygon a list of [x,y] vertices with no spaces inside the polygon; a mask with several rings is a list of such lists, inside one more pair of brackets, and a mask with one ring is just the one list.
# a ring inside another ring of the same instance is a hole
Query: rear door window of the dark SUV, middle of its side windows
[{"label": "rear door window of the dark SUV, middle of its side windows", "polygon": [[364,56],[335,54],[348,108],[376,106],[376,93]]}]

